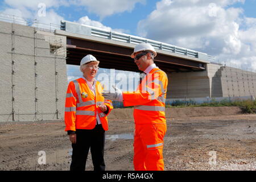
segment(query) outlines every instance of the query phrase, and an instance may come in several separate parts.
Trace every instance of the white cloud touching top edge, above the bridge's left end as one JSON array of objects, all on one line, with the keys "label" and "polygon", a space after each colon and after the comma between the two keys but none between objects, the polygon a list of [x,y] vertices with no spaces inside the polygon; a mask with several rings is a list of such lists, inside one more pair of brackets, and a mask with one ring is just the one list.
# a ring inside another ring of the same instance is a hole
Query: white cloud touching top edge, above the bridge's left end
[{"label": "white cloud touching top edge, above the bridge's left end", "polygon": [[146,0],[77,0],[76,5],[85,6],[89,13],[100,16],[101,19],[113,14],[130,12],[136,3],[145,3]]}]

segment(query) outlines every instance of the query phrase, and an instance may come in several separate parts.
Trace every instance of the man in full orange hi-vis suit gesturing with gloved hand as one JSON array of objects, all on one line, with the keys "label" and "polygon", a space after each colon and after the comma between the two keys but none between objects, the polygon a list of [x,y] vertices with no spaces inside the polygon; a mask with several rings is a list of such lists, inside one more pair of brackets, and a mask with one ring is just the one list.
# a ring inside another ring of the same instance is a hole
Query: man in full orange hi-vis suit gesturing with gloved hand
[{"label": "man in full orange hi-vis suit gesturing with gloved hand", "polygon": [[134,58],[142,78],[135,92],[104,92],[108,100],[118,100],[124,106],[134,106],[134,169],[138,171],[164,170],[163,145],[166,134],[165,101],[168,78],[156,67],[154,47],[147,43],[135,46]]}]

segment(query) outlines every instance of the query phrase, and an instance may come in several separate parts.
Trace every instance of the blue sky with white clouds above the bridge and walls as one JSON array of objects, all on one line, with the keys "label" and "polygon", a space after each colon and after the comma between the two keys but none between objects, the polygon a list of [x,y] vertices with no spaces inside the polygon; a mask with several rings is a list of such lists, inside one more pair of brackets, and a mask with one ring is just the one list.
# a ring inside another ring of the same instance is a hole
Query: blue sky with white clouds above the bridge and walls
[{"label": "blue sky with white clouds above the bridge and walls", "polygon": [[[39,3],[46,16],[39,16]],[[61,19],[108,28],[216,56],[256,70],[256,0],[5,0],[0,13],[42,23]],[[71,78],[77,72],[68,68]]]}]

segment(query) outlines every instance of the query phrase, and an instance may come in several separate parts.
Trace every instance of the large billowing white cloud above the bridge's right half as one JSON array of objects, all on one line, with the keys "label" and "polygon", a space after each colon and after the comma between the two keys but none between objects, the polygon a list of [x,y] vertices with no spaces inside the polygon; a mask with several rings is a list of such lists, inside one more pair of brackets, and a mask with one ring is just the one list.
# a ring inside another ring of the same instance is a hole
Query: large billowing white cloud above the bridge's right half
[{"label": "large billowing white cloud above the bridge's right half", "polygon": [[149,39],[256,69],[256,18],[247,18],[242,9],[230,7],[236,2],[244,3],[243,0],[162,0],[138,23],[137,31]]}]

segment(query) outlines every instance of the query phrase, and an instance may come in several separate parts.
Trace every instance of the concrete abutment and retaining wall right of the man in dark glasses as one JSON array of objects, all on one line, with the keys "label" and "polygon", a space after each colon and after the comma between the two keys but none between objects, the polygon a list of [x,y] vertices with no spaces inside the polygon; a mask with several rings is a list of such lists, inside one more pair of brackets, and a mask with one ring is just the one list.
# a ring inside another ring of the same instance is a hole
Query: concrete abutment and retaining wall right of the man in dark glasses
[{"label": "concrete abutment and retaining wall right of the man in dark glasses", "polygon": [[207,64],[204,72],[168,73],[168,99],[256,96],[256,73]]}]

